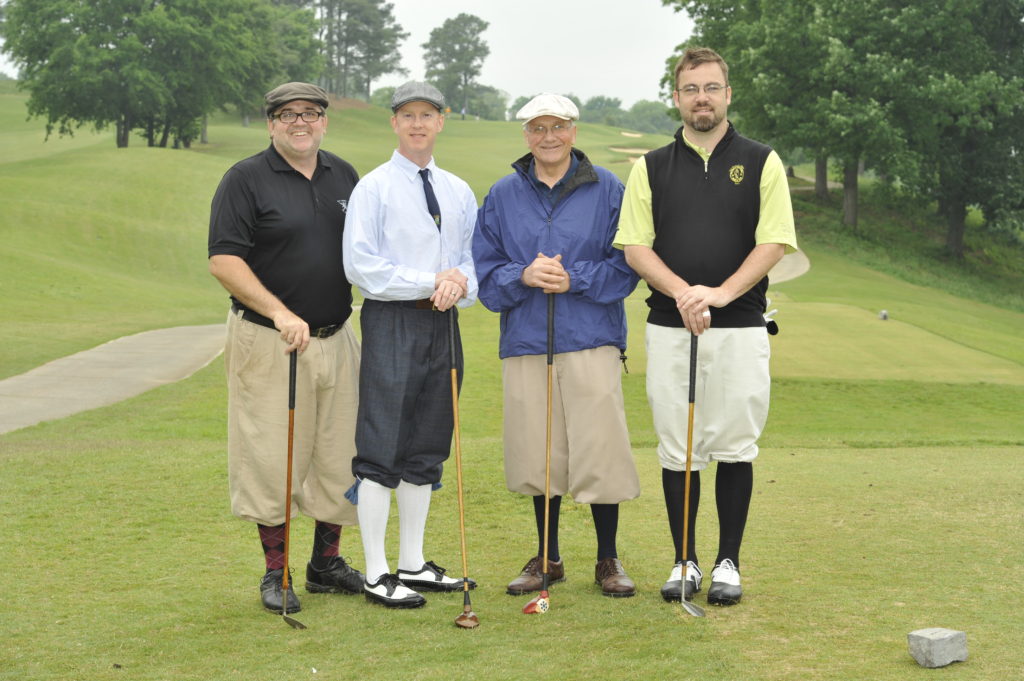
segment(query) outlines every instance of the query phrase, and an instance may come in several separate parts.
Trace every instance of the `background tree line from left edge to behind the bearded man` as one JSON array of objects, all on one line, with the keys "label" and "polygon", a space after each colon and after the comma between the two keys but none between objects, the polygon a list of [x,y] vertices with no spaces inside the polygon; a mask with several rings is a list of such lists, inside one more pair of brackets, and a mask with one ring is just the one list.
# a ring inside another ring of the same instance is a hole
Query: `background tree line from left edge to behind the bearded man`
[{"label": "background tree line from left edge to behind the bearded man", "polygon": [[[487,27],[461,13],[431,31],[426,79],[457,115],[506,120],[521,103],[510,112],[507,92],[478,81]],[[393,88],[373,84],[408,74],[399,48],[409,33],[384,0],[8,0],[0,37],[47,135],[114,127],[118,146],[138,132],[150,145],[187,147],[204,139],[209,114],[233,109],[248,120],[263,92],[291,80],[388,107]],[[581,111],[647,132],[675,125],[652,101],[624,111],[595,97]]]}]

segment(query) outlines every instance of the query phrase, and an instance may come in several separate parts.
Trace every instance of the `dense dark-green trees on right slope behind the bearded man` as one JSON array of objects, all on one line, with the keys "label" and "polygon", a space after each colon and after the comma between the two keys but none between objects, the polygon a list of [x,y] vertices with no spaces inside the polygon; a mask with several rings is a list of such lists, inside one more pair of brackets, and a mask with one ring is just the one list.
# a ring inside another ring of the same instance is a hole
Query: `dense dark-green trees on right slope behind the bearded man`
[{"label": "dense dark-green trees on right slope behind the bearded man", "polygon": [[729,63],[741,132],[815,159],[819,196],[838,165],[845,224],[867,169],[937,206],[953,257],[974,206],[1024,235],[1024,0],[663,3],[694,19],[679,52],[707,45]]}]

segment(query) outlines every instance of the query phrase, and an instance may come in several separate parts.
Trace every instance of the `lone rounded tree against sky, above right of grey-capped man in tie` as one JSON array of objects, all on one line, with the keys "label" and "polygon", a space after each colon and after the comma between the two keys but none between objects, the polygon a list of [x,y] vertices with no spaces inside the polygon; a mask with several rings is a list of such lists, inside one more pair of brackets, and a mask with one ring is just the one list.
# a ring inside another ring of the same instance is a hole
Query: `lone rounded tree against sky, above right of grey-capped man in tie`
[{"label": "lone rounded tree against sky, above right of grey-capped man in tie", "polygon": [[422,45],[427,80],[444,93],[453,109],[461,108],[463,118],[483,60],[490,54],[482,38],[488,26],[479,16],[463,12],[431,31]]}]

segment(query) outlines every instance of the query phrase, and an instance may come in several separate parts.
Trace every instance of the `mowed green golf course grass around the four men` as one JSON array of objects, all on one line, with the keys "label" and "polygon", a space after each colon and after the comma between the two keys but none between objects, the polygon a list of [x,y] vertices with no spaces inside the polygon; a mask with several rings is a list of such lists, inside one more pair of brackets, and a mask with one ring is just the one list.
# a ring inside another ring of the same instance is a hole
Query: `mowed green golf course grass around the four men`
[{"label": "mowed green golf course grass around the four men", "polygon": [[[263,146],[262,128],[223,118],[212,143],[190,152],[137,139],[116,150],[109,134],[43,144],[24,101],[0,90],[0,378],[127,333],[222,321],[226,296],[206,272],[209,201],[223,171]],[[328,148],[360,172],[387,158],[386,112],[333,113]],[[579,145],[625,177],[626,155],[608,150],[623,140],[665,141],[583,126]],[[524,151],[514,124],[453,120],[437,158],[482,199]],[[658,596],[672,549],[638,290],[624,386],[643,493],[620,521],[637,597],[600,595],[590,511],[569,500],[567,581],[553,588],[552,609],[523,615],[528,598],[505,595],[535,548],[532,512],[504,487],[498,317],[475,306],[462,317],[461,415],[479,629],[455,628],[459,595],[391,611],[306,594],[305,518],[293,563],[309,629],[261,610],[256,533],[227,504],[218,359],[120,405],[0,435],[0,679],[1017,678],[1024,314],[830,252],[809,257],[808,274],[770,291],[781,333],[739,605],[694,620]],[[458,572],[453,473],[434,495],[427,557]],[[713,477],[696,527],[706,567],[717,548]],[[356,529],[342,553],[362,565]],[[966,631],[970,659],[919,668],[906,634],[925,627]]]}]

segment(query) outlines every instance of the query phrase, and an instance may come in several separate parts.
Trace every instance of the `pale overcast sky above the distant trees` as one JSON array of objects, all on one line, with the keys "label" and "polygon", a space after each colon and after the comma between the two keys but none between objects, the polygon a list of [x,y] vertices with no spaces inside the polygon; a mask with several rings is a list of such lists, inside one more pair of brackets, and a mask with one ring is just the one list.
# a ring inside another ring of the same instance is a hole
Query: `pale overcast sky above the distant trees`
[{"label": "pale overcast sky above the distant trees", "polygon": [[[569,92],[587,100],[618,97],[629,109],[657,99],[658,80],[676,45],[692,30],[689,17],[660,0],[393,0],[395,18],[410,36],[402,43],[409,78],[423,78],[423,48],[430,32],[460,12],[490,26],[483,40],[490,54],[479,82],[511,99],[538,92]],[[14,69],[0,55],[0,70]],[[397,85],[387,77],[374,84]]]}]

